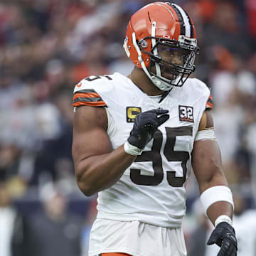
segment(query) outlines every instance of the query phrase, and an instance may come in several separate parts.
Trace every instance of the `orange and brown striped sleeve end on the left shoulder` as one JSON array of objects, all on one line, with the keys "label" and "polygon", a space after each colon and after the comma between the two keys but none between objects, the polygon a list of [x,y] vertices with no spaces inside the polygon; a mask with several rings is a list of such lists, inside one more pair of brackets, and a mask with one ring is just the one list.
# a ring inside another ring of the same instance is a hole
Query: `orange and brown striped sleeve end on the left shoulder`
[{"label": "orange and brown striped sleeve end on the left shoulder", "polygon": [[73,107],[79,106],[95,106],[107,107],[107,104],[102,100],[102,97],[95,90],[80,90],[75,92],[73,97]]}]

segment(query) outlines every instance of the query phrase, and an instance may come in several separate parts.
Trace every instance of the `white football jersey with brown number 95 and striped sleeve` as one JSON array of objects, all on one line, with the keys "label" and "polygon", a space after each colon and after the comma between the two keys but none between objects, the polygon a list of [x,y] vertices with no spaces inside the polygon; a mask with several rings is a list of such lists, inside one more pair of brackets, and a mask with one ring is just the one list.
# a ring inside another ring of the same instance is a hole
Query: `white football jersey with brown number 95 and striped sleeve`
[{"label": "white football jersey with brown number 95 and striped sleeve", "polygon": [[161,99],[149,97],[132,80],[114,73],[85,78],[74,92],[74,107],[105,107],[113,149],[127,141],[139,112],[169,110],[169,119],[157,129],[142,155],[117,183],[98,194],[97,218],[180,228],[186,212],[185,183],[191,172],[191,152],[210,97],[208,87],[188,78],[182,87],[174,87]]}]

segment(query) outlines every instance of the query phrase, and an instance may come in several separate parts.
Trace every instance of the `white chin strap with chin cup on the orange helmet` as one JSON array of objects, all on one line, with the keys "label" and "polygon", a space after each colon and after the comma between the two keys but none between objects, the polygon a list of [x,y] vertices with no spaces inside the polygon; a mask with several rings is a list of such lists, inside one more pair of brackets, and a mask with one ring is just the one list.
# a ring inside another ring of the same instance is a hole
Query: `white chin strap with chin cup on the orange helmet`
[{"label": "white chin strap with chin cup on the orange helmet", "polygon": [[[151,36],[152,37],[156,36],[156,22],[155,21],[152,23]],[[150,75],[149,74],[149,71],[146,69],[146,65],[144,63],[144,60],[142,59],[142,52],[139,49],[139,46],[137,44],[135,33],[132,33],[132,43],[133,43],[135,49],[137,50],[138,60],[139,60],[139,62],[142,65],[142,70],[144,71],[144,73],[146,73],[146,75],[151,80],[151,82],[153,82],[154,85],[156,85],[156,87],[158,87],[160,90],[164,90],[164,91],[171,90],[173,85],[169,84],[170,80],[161,77],[161,68],[160,68],[159,63],[155,63],[156,75]],[[156,46],[156,39],[152,38],[152,48],[154,48],[154,46]],[[154,53],[154,55],[158,55],[157,48],[154,48],[154,52],[153,53]],[[164,81],[164,80],[166,80],[166,81]]]}]

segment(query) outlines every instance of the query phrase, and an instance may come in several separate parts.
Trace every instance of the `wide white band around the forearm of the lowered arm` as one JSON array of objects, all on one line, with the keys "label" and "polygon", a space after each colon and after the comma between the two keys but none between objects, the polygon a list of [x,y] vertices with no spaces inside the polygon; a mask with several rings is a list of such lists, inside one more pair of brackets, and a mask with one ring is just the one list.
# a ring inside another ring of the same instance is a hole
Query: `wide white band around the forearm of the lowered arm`
[{"label": "wide white band around the forearm of the lowered arm", "polygon": [[230,203],[234,208],[233,196],[230,188],[228,188],[227,186],[213,186],[207,188],[206,191],[203,191],[203,193],[201,194],[200,199],[206,216],[208,208],[213,203],[218,201],[226,201]]}]

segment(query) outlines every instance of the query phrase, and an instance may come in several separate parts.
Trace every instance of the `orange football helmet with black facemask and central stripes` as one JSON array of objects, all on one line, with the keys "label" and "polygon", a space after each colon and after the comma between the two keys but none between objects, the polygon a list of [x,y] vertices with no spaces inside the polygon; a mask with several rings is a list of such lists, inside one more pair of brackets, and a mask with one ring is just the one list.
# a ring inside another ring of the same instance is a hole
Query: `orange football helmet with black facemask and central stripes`
[{"label": "orange football helmet with black facemask and central stripes", "polygon": [[[181,63],[171,63],[159,55],[159,46],[182,50]],[[182,86],[195,70],[198,53],[196,30],[192,19],[181,6],[170,2],[155,2],[139,9],[129,21],[124,50],[134,65],[142,68],[161,90]],[[168,68],[171,78],[161,69]]]}]

